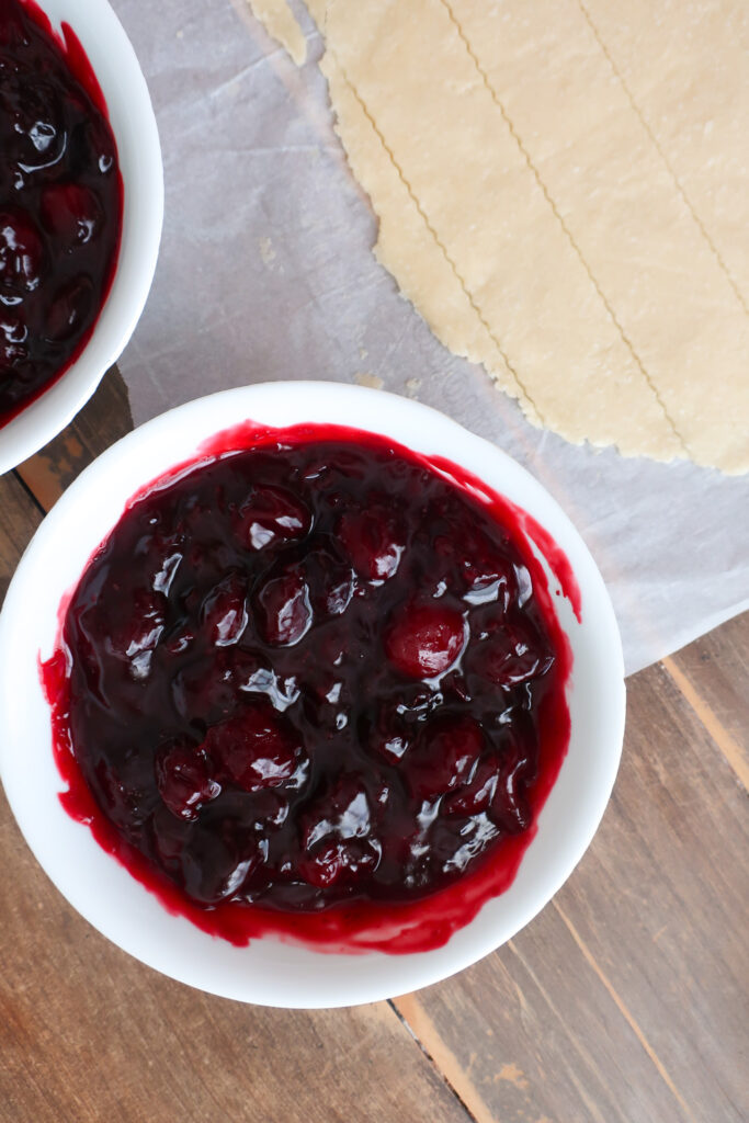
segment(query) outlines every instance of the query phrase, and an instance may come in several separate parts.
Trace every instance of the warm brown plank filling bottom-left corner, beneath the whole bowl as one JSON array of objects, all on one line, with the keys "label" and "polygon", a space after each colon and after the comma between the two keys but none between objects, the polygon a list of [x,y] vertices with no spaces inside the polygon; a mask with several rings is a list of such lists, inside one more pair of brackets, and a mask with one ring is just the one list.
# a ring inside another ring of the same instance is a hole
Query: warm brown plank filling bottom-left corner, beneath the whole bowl
[{"label": "warm brown plank filling bottom-left corner, beneath the whole bowl", "polygon": [[119,951],[46,879],[1,795],[0,901],[2,1123],[469,1123],[385,1003],[264,1010]]}]

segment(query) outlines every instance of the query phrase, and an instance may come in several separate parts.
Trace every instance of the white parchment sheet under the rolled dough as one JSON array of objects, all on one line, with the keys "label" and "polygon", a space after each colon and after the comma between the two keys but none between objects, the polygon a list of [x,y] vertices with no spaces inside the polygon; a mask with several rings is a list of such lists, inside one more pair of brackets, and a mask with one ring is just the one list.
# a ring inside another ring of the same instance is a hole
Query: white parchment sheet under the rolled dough
[{"label": "white parchment sheet under the rolled dough", "polygon": [[311,25],[298,71],[243,0],[112,2],[166,176],[156,280],[120,362],[136,423],[245,383],[382,386],[494,441],[555,495],[608,582],[629,673],[749,608],[749,477],[533,429],[399,295],[371,253],[375,218],[332,129]]}]

